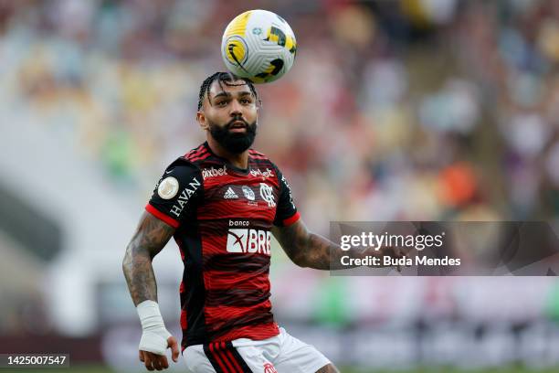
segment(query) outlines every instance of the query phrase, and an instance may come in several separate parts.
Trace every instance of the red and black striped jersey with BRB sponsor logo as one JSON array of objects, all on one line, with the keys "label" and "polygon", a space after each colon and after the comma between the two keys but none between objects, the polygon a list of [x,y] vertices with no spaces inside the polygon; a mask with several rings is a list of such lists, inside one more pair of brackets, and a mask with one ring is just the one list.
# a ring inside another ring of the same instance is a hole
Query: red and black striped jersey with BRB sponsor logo
[{"label": "red and black striped jersey with BRB sponsor logo", "polygon": [[183,348],[279,334],[269,301],[270,229],[299,213],[276,165],[251,149],[248,169],[239,169],[202,144],[167,167],[146,209],[176,229]]}]

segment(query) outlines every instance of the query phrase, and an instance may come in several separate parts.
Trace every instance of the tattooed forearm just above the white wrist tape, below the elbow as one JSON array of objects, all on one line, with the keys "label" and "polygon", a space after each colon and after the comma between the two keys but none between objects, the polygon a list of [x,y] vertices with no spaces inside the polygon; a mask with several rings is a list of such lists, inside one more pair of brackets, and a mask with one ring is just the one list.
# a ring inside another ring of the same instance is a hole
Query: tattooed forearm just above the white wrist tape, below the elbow
[{"label": "tattooed forearm just above the white wrist tape, below the elbow", "polygon": [[122,261],[122,271],[134,305],[147,300],[157,302],[157,282],[148,250],[129,245]]}]

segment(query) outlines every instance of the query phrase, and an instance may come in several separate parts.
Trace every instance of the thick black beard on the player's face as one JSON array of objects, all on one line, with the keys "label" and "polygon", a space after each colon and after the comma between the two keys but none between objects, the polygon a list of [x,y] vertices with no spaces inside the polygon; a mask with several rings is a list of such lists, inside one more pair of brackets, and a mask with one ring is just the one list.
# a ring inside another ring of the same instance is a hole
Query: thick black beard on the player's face
[{"label": "thick black beard on the player's face", "polygon": [[[234,122],[241,121],[245,123],[246,131],[245,133],[232,133],[230,132],[231,127]],[[217,144],[220,144],[227,150],[227,152],[232,154],[243,153],[247,150],[252,143],[254,143],[254,138],[257,133],[257,121],[253,123],[248,123],[241,118],[233,118],[229,123],[224,126],[220,126],[217,123],[213,123],[208,120],[209,131],[212,137],[216,139]]]}]

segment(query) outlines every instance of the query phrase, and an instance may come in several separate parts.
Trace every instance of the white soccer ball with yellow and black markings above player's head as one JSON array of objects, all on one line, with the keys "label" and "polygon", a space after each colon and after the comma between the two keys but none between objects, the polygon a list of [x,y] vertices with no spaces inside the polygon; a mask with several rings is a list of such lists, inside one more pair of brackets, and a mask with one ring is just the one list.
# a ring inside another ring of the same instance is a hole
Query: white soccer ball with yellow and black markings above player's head
[{"label": "white soccer ball with yellow and black markings above player's head", "polygon": [[290,25],[268,10],[248,10],[227,25],[221,55],[231,72],[255,83],[280,79],[297,52]]}]

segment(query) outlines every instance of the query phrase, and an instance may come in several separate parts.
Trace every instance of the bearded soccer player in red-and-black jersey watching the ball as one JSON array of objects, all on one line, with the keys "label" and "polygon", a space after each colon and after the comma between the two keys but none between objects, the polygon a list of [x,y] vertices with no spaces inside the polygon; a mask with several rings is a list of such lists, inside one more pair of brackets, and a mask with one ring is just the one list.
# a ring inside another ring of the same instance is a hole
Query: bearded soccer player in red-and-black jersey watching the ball
[{"label": "bearded soccer player in red-and-black jersey watching the ball", "polygon": [[[140,360],[168,368],[179,355],[157,305],[153,257],[174,237],[185,264],[180,285],[187,371],[337,372],[328,358],[275,322],[269,301],[271,234],[301,267],[329,270],[347,255],[302,222],[280,169],[250,148],[258,92],[217,72],[200,87],[196,120],[207,141],[164,171],[127,247],[123,271],[142,322]],[[359,257],[360,253],[353,253]]]}]

